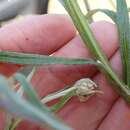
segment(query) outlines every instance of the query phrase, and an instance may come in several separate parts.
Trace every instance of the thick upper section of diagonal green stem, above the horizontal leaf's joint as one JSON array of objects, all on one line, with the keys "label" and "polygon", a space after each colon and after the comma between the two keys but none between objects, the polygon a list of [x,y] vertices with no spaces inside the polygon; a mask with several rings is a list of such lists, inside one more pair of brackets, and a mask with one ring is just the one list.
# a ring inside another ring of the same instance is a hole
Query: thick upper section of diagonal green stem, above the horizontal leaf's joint
[{"label": "thick upper section of diagonal green stem, above the horizontal leaf's joint", "polygon": [[[104,62],[104,59],[106,61],[107,60],[106,55],[103,53],[99,44],[97,44],[97,41],[94,38],[94,35],[89,27],[89,23],[85,19],[83,13],[81,12],[81,9],[78,6],[77,0],[59,0],[59,1],[63,3],[64,7],[70,14],[75,26],[78,29],[80,36],[82,37],[83,41],[85,42],[85,45],[90,49],[92,54],[96,58],[98,58],[101,62],[102,61]],[[76,8],[76,10],[74,10],[74,8]]]}]

